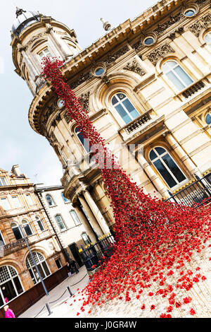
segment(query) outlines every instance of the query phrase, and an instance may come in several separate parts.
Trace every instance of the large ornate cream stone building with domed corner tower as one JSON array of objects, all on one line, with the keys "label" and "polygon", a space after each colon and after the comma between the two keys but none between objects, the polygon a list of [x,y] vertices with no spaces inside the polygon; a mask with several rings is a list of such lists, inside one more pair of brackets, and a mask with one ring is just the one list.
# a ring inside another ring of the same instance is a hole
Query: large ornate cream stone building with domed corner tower
[{"label": "large ornate cream stone building with domed corner tower", "polygon": [[17,10],[11,46],[34,97],[30,126],[63,164],[64,196],[88,216],[91,239],[112,230],[110,201],[89,146],[40,76],[41,59],[65,61],[63,76],[127,174],[167,198],[210,169],[210,23],[210,1],[162,0],[81,49],[63,23]]}]

